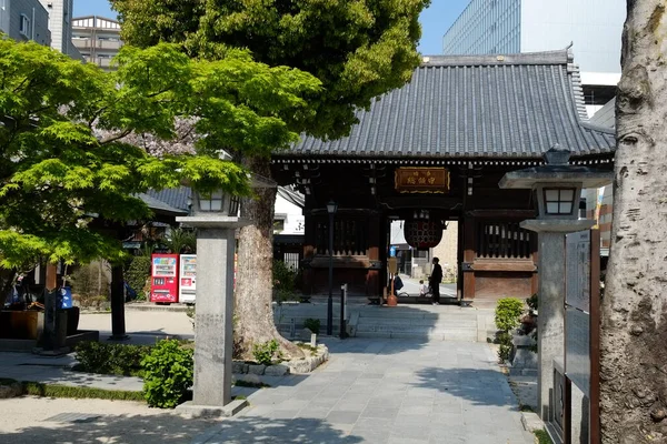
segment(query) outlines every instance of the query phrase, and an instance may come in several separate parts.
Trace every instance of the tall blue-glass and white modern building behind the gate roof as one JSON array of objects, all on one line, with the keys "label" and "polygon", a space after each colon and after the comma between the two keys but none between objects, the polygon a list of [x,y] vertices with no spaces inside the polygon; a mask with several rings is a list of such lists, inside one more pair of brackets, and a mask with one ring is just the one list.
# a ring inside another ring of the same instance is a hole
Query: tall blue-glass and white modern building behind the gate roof
[{"label": "tall blue-glass and white modern building behind the gate roof", "polygon": [[442,52],[507,54],[573,44],[589,115],[620,79],[623,0],[471,0],[445,33]]}]

